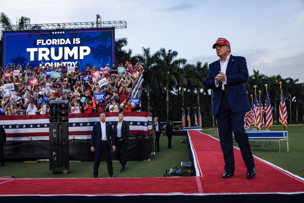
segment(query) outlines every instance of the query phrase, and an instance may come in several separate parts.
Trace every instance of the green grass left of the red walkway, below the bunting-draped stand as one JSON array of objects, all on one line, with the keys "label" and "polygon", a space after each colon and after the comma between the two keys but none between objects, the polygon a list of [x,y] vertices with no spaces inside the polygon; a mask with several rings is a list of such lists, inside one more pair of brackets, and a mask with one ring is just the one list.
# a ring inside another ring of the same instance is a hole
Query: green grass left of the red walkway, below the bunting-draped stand
[{"label": "green grass left of the red walkway, below the bunting-draped stand", "polygon": [[[156,155],[149,156],[150,161],[129,160],[126,171],[120,173],[121,165],[113,162],[114,177],[163,177],[166,169],[171,169],[181,163],[189,161],[187,143],[181,143],[185,136],[172,138],[173,149],[168,149],[168,138],[160,138],[160,150]],[[49,162],[23,163],[6,162],[5,167],[0,167],[0,177],[15,176],[17,178],[92,178],[93,161],[70,162],[70,172],[49,174]],[[100,162],[98,177],[109,177],[107,163]]]}]

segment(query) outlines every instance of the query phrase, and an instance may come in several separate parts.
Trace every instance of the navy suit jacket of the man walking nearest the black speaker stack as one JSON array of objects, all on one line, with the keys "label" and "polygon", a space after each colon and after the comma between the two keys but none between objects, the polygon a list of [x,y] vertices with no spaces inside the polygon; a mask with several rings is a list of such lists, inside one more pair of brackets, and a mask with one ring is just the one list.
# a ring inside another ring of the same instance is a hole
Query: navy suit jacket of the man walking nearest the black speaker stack
[{"label": "navy suit jacket of the man walking nearest the black speaker stack", "polygon": [[[112,146],[115,146],[115,137],[114,137],[113,127],[109,122],[105,122],[105,131],[107,135],[108,145],[109,148],[111,149]],[[91,147],[94,147],[95,151],[97,151],[100,147],[101,138],[102,138],[102,131],[99,121],[94,124],[91,135]],[[112,146],[111,146],[111,140],[112,140]]]}]

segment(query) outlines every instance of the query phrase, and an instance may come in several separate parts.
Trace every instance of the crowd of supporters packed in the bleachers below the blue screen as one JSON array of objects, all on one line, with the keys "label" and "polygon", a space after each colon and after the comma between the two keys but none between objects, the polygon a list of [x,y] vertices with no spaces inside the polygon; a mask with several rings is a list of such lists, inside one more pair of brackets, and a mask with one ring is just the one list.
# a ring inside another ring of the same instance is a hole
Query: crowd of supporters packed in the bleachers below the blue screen
[{"label": "crowd of supporters packed in the bleachers below the blue screen", "polygon": [[[130,112],[140,111],[140,105],[135,105],[128,98],[128,93],[136,78],[143,72],[140,62],[132,65],[126,61],[117,66],[109,64],[97,67],[89,65],[84,72],[80,72],[77,64],[74,72],[68,72],[68,68],[62,65],[36,66],[34,68],[27,64],[23,69],[21,65],[13,67],[0,67],[0,87],[13,83],[14,89],[3,93],[0,90],[0,114],[2,115],[22,115],[22,114],[48,114],[50,100],[69,100],[70,113],[91,113],[91,112]],[[119,72],[118,68],[123,67],[125,72]],[[19,70],[19,75],[5,77],[4,73],[13,73]],[[60,72],[58,79],[47,75],[46,71]],[[108,74],[103,74],[100,70],[109,70]],[[98,77],[92,77],[92,72],[100,72]],[[88,75],[89,81],[82,77]],[[100,87],[99,80],[106,78],[108,84]],[[38,85],[30,85],[29,80],[38,79]],[[105,100],[95,101],[94,94],[105,93]],[[2,109],[1,109],[2,108]]]}]

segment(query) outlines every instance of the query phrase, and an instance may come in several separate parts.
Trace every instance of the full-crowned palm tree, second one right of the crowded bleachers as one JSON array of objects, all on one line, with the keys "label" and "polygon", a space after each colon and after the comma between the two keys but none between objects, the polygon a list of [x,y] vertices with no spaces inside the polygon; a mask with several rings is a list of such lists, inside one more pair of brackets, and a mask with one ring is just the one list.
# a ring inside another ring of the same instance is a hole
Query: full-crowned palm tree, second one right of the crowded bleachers
[{"label": "full-crowned palm tree, second one right of the crowded bleachers", "polygon": [[164,48],[161,48],[156,58],[157,65],[154,67],[157,69],[157,72],[161,73],[160,77],[163,79],[162,83],[166,91],[166,121],[168,121],[169,117],[169,86],[177,86],[178,82],[174,73],[180,68],[180,65],[184,65],[187,61],[185,58],[175,59],[177,55],[177,51],[172,51],[171,49],[166,51]]}]

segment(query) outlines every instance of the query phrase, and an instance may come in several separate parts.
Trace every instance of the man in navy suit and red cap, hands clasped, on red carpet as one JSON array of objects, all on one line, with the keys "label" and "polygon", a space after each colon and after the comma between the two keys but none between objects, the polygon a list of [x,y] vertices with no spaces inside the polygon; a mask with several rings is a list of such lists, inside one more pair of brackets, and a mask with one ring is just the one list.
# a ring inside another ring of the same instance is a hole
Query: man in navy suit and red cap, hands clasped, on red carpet
[{"label": "man in navy suit and red cap, hands clasped, on red carpet", "polygon": [[230,43],[219,38],[213,49],[218,61],[209,65],[206,86],[213,89],[212,116],[216,116],[219,140],[225,160],[223,178],[230,178],[234,172],[232,132],[240,145],[241,154],[247,167],[247,178],[255,176],[255,165],[247,133],[244,128],[246,111],[250,111],[245,89],[248,79],[246,59],[231,55]]}]

